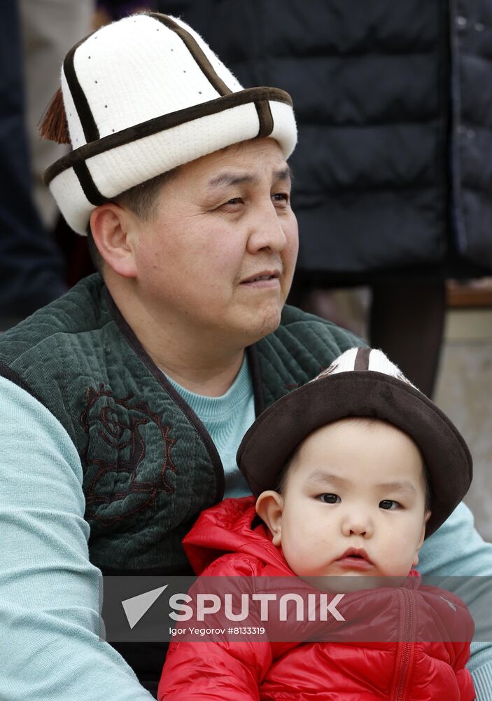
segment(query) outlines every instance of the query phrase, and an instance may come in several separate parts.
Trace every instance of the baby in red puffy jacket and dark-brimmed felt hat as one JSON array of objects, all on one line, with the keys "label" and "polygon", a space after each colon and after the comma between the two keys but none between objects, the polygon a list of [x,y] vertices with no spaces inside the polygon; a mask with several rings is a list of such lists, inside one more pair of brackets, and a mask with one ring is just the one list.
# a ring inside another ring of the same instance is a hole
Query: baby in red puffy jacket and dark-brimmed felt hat
[{"label": "baby in red puffy jacket and dark-brimmed felt hat", "polygon": [[419,588],[413,570],[424,538],[468,491],[470,453],[384,353],[351,348],[269,407],[241,442],[238,465],[256,500],[202,513],[183,541],[195,571],[363,577],[364,589],[369,577],[410,574],[412,596],[405,585],[384,590],[390,604],[370,622],[402,634],[366,643],[173,643],[160,700],[475,698],[463,642],[469,614],[452,594]]}]

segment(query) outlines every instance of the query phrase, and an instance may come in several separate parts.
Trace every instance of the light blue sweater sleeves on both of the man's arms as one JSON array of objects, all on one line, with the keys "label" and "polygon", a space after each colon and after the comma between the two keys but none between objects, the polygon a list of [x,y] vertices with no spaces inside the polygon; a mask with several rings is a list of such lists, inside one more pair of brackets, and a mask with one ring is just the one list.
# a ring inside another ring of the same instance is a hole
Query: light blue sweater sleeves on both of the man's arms
[{"label": "light blue sweater sleeves on both of the man's arms", "polygon": [[[64,428],[0,377],[0,699],[150,701],[99,641],[99,571],[88,559],[80,458]],[[422,573],[492,576],[492,545],[461,505],[421,550]],[[492,644],[472,644],[492,701]]]}]

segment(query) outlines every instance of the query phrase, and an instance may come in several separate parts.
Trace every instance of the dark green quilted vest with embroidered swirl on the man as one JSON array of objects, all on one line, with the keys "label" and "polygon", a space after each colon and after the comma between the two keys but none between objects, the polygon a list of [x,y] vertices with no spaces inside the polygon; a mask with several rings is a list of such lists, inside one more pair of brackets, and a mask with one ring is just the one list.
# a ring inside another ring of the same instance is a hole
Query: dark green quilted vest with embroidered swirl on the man
[{"label": "dark green quilted vest with embroidered swirl on the man", "polygon": [[[286,307],[279,329],[248,348],[257,414],[358,345]],[[0,374],[40,400],[76,445],[91,561],[104,573],[187,571],[181,540],[222,498],[223,468],[100,275],[0,336]]]}]

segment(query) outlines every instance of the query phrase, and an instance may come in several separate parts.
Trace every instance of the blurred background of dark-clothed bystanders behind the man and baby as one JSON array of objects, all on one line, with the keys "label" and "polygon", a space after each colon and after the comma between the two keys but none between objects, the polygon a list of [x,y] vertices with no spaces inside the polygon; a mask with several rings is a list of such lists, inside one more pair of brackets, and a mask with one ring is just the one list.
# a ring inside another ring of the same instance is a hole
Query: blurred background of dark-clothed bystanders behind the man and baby
[{"label": "blurred background of dark-clothed bystanders behind the man and baby", "polygon": [[290,303],[383,348],[467,440],[492,540],[492,0],[15,0],[0,23],[0,330],[92,272],[41,181],[66,52],[135,11],[181,16],[245,88],[293,97]]}]

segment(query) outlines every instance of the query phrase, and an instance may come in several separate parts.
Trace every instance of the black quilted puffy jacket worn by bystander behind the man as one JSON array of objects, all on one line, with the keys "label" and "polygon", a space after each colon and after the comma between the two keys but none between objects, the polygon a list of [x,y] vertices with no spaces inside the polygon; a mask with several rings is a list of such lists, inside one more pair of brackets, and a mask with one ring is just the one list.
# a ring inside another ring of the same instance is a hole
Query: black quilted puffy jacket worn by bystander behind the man
[{"label": "black quilted puffy jacket worn by bystander behind the man", "polygon": [[492,269],[492,0],[161,0],[293,97],[302,271]]}]

